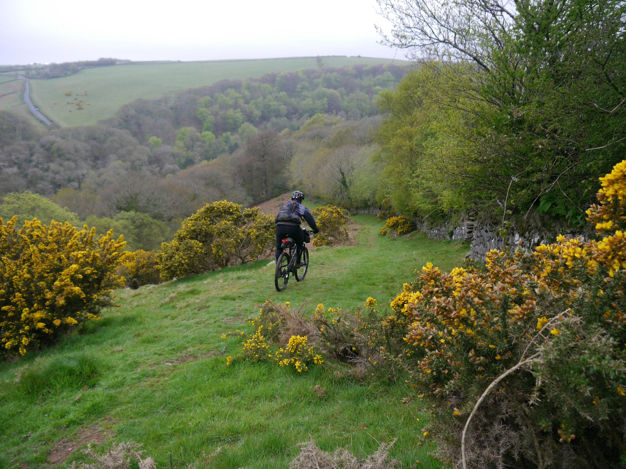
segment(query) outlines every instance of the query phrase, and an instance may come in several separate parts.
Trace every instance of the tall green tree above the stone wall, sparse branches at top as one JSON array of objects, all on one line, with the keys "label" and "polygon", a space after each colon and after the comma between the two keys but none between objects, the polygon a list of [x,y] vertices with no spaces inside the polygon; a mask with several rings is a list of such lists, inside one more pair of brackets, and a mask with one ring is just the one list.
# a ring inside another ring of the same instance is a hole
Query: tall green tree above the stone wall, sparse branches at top
[{"label": "tall green tree above the stone wall, sparse branches at top", "polygon": [[393,24],[382,42],[438,74],[438,107],[458,116],[445,134],[471,168],[458,179],[488,188],[481,207],[582,223],[593,175],[626,149],[626,3],[377,4]]}]

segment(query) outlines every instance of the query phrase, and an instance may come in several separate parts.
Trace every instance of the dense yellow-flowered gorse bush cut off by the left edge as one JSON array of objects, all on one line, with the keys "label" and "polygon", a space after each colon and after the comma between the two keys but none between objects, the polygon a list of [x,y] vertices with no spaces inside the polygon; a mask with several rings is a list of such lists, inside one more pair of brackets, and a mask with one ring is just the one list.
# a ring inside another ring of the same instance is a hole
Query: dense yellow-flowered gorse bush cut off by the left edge
[{"label": "dense yellow-flowered gorse bush cut off by the left edge", "polygon": [[111,306],[125,242],[37,219],[0,218],[0,355],[54,343]]}]

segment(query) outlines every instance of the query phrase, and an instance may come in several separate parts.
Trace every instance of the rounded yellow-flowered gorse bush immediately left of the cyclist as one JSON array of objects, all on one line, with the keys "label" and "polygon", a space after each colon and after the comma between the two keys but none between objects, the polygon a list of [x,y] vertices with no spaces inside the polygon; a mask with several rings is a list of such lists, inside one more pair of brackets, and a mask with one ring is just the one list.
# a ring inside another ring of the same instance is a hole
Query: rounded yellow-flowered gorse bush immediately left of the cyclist
[{"label": "rounded yellow-flowered gorse bush immediately left of the cyclist", "polygon": [[274,245],[272,216],[228,201],[206,204],[163,243],[158,269],[163,280],[255,261]]}]

